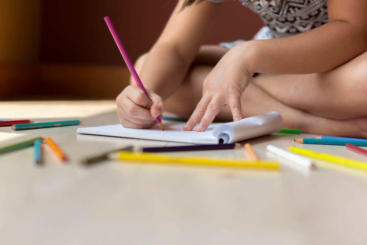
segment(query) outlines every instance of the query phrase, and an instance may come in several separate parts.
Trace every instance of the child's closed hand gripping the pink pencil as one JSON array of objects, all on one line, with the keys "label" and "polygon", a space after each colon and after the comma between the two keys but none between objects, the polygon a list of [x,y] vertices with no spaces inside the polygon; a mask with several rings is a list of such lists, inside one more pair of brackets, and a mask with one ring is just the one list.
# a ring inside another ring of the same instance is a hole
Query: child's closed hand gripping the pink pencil
[{"label": "child's closed hand gripping the pink pencil", "polygon": [[137,85],[127,86],[117,96],[117,115],[121,125],[126,128],[151,128],[156,124],[156,118],[161,117],[166,105],[156,93],[146,91],[152,101]]}]

